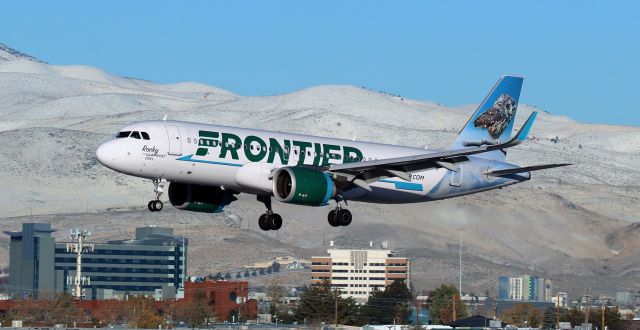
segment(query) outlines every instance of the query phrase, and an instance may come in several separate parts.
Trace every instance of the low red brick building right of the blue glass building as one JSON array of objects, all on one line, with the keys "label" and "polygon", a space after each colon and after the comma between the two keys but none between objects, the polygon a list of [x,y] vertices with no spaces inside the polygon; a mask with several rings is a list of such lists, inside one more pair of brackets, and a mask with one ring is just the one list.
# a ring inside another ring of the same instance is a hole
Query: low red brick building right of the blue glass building
[{"label": "low red brick building right of the blue glass building", "polygon": [[249,299],[247,281],[187,281],[184,287],[184,301],[204,299],[215,316],[216,322],[255,320],[258,304]]}]

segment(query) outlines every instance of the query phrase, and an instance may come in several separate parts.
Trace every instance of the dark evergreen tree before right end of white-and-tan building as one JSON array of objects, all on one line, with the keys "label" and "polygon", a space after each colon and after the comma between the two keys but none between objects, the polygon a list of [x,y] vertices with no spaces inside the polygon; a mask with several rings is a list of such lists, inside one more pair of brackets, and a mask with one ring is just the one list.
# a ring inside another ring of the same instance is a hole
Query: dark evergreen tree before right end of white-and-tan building
[{"label": "dark evergreen tree before right end of white-and-tan building", "polygon": [[371,324],[404,324],[411,314],[411,292],[403,280],[395,280],[384,291],[371,293],[365,316]]}]

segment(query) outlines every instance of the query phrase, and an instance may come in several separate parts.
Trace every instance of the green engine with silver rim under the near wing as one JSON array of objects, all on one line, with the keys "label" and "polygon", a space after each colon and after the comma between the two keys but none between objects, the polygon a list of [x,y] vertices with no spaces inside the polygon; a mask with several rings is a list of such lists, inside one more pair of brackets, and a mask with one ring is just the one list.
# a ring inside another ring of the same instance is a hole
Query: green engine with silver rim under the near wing
[{"label": "green engine with silver rim under the near wing", "polygon": [[291,204],[325,205],[336,194],[329,174],[308,167],[282,167],[273,174],[276,199]]}]

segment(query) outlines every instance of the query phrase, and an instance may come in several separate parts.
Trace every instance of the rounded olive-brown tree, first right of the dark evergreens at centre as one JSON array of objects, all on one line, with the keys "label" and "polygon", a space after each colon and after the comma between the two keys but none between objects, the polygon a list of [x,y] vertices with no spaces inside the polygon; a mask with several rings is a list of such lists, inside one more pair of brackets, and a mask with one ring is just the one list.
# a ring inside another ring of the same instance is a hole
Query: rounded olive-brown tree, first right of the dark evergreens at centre
[{"label": "rounded olive-brown tree, first right of the dark evergreens at centre", "polygon": [[455,286],[442,284],[429,296],[429,319],[433,324],[449,324],[453,321],[454,301],[456,319],[467,317],[467,306],[460,300],[460,293]]}]

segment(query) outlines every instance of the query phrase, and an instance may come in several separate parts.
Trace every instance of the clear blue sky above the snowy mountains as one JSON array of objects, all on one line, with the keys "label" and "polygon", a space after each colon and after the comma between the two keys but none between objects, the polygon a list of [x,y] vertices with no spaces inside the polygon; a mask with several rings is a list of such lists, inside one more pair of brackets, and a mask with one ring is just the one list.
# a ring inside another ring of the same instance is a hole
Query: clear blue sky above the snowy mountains
[{"label": "clear blue sky above the snowy mountains", "polygon": [[506,73],[521,101],[640,126],[640,1],[10,1],[0,42],[52,64],[241,95],[350,84],[478,103]]}]

